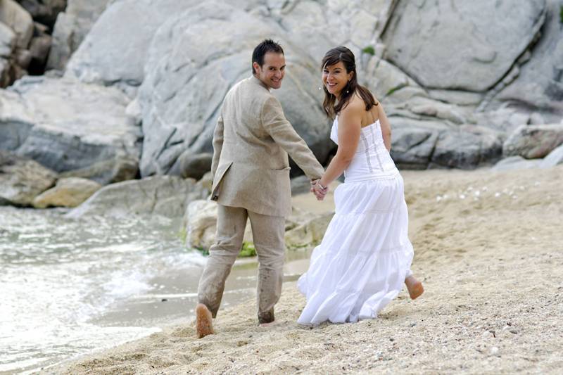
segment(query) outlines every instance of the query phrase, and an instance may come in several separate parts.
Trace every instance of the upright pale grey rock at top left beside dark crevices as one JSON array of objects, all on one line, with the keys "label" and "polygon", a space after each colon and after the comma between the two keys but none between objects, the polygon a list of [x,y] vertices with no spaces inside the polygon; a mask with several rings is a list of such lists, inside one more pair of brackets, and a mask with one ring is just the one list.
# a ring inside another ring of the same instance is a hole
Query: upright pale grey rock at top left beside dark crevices
[{"label": "upright pale grey rock at top left beside dark crevices", "polygon": [[78,49],[109,0],[68,0],[64,13],[59,13],[53,28],[53,45],[47,69],[63,70]]}]

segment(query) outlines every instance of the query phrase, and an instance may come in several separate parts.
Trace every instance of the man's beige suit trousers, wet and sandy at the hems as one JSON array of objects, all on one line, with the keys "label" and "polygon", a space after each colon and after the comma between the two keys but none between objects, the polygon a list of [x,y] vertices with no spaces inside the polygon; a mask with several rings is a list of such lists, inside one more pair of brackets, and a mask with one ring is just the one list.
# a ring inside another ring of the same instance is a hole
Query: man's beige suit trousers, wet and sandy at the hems
[{"label": "man's beige suit trousers, wet and sandy at the hems", "polygon": [[198,300],[213,317],[221,304],[224,283],[242,248],[249,218],[258,255],[258,320],[274,320],[274,305],[281,295],[285,257],[285,217],[261,215],[246,208],[218,205],[217,236],[209,248],[207,264],[198,285]]}]

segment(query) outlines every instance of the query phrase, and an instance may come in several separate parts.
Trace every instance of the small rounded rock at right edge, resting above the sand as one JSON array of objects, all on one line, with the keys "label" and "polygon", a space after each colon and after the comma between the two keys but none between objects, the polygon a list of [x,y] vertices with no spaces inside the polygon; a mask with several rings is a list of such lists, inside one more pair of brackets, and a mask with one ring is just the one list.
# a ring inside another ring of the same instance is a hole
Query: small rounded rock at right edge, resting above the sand
[{"label": "small rounded rock at right edge, resting above the sand", "polygon": [[563,144],[563,125],[522,125],[502,145],[502,155],[543,158]]}]

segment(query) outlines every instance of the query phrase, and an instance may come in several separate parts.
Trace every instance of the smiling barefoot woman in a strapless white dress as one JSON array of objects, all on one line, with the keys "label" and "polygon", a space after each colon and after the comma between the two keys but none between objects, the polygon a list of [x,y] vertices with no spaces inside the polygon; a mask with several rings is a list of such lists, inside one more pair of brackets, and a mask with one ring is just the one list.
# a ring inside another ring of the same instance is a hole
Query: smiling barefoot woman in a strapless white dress
[{"label": "smiling barefoot woman in a strapless white dress", "polygon": [[322,82],[338,151],[312,191],[322,199],[342,173],[345,181],[334,191],[336,213],[298,281],[307,298],[301,324],[375,318],[403,282],[412,299],[424,291],[410,271],[403,178],[389,155],[391,128],[381,103],[358,84],[354,54],[346,47],[324,56]]}]

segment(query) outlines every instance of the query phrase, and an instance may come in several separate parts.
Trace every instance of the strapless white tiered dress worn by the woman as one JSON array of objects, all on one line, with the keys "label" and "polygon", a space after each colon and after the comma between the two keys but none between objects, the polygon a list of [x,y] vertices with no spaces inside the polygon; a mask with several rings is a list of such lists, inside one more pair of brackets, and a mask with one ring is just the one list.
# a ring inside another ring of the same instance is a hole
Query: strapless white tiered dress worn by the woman
[{"label": "strapless white tiered dress worn by the woman", "polygon": [[[337,134],[338,118],[331,129],[336,144]],[[298,281],[307,298],[300,324],[375,318],[412,274],[403,177],[384,146],[379,120],[361,129],[344,177],[334,191],[334,217]]]}]

